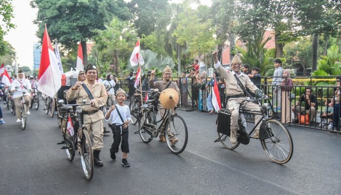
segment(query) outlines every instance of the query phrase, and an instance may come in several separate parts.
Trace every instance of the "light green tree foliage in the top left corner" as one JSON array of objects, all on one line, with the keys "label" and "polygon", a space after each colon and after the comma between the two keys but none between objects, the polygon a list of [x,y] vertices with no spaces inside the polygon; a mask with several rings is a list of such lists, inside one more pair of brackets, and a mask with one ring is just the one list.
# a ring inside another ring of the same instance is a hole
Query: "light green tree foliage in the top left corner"
[{"label": "light green tree foliage in the top left corner", "polygon": [[13,7],[12,0],[0,0],[0,56],[3,56],[7,53],[6,41],[4,41],[3,37],[7,34],[7,32],[14,28],[15,25],[11,22],[14,18],[13,15]]}]

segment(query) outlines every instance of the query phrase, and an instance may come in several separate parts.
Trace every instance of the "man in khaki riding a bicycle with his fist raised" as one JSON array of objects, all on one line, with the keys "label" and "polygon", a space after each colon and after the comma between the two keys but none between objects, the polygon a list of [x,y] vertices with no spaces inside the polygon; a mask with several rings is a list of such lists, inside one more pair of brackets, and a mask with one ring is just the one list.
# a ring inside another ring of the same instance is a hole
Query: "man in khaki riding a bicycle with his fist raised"
[{"label": "man in khaki riding a bicycle with his fist raised", "polygon": [[[244,90],[241,88],[240,84],[244,86],[244,88],[248,88],[252,93],[255,93],[259,89],[254,85],[250,78],[247,75],[240,71],[242,66],[242,61],[236,55],[232,59],[231,69],[232,71],[226,70],[220,63],[217,57],[218,51],[212,53],[214,58],[214,68],[218,69],[219,73],[223,78],[226,79],[226,93],[227,93],[227,106],[228,110],[231,114],[231,126],[230,126],[230,142],[232,144],[237,143],[237,130],[238,130],[238,117],[239,117],[239,108],[240,105],[246,99]],[[237,81],[237,78],[239,81]],[[247,102],[244,105],[244,109],[252,110],[252,111],[261,111],[259,105],[254,102]],[[262,115],[255,116],[255,124],[258,123],[262,119]],[[255,128],[255,133],[253,134],[254,138],[259,138],[259,129],[261,123]]]}]

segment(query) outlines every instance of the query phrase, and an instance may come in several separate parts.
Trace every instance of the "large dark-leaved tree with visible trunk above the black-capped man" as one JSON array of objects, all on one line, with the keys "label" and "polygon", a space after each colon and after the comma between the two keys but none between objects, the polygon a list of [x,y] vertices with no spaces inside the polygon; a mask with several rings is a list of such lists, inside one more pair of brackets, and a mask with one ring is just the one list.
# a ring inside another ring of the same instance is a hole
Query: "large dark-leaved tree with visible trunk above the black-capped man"
[{"label": "large dark-leaved tree with visible trunk above the black-capped man", "polygon": [[104,29],[104,22],[117,16],[130,20],[131,14],[124,0],[32,0],[31,6],[38,8],[39,29],[37,36],[42,39],[46,23],[51,39],[58,39],[65,48],[75,48],[78,41],[83,48],[83,60],[87,65],[86,41],[95,34],[94,30]]}]

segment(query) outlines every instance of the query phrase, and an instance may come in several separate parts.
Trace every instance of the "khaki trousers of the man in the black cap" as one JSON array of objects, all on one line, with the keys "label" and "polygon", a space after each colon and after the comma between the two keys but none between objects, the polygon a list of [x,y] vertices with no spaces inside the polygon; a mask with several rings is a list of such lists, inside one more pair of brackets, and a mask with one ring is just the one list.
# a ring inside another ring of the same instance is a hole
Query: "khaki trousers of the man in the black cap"
[{"label": "khaki trousers of the man in the black cap", "polygon": [[89,135],[93,134],[93,150],[103,148],[103,122],[97,120],[95,122],[84,121],[84,126],[87,128]]}]

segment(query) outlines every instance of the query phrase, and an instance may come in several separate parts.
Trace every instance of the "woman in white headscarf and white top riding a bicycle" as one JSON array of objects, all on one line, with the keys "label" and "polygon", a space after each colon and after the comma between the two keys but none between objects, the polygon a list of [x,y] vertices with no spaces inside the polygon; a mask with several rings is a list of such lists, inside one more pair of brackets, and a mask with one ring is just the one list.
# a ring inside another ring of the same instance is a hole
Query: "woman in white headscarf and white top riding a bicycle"
[{"label": "woman in white headscarf and white top riding a bicycle", "polygon": [[25,93],[24,100],[25,100],[25,104],[27,105],[26,114],[29,115],[30,111],[28,110],[28,108],[30,105],[31,95],[28,92],[32,91],[30,81],[25,78],[25,75],[21,70],[18,71],[18,78],[12,82],[11,91],[14,92],[13,99],[14,99],[14,105],[16,106],[17,122],[21,122],[21,117],[20,117],[21,97],[23,96],[23,93]]}]

